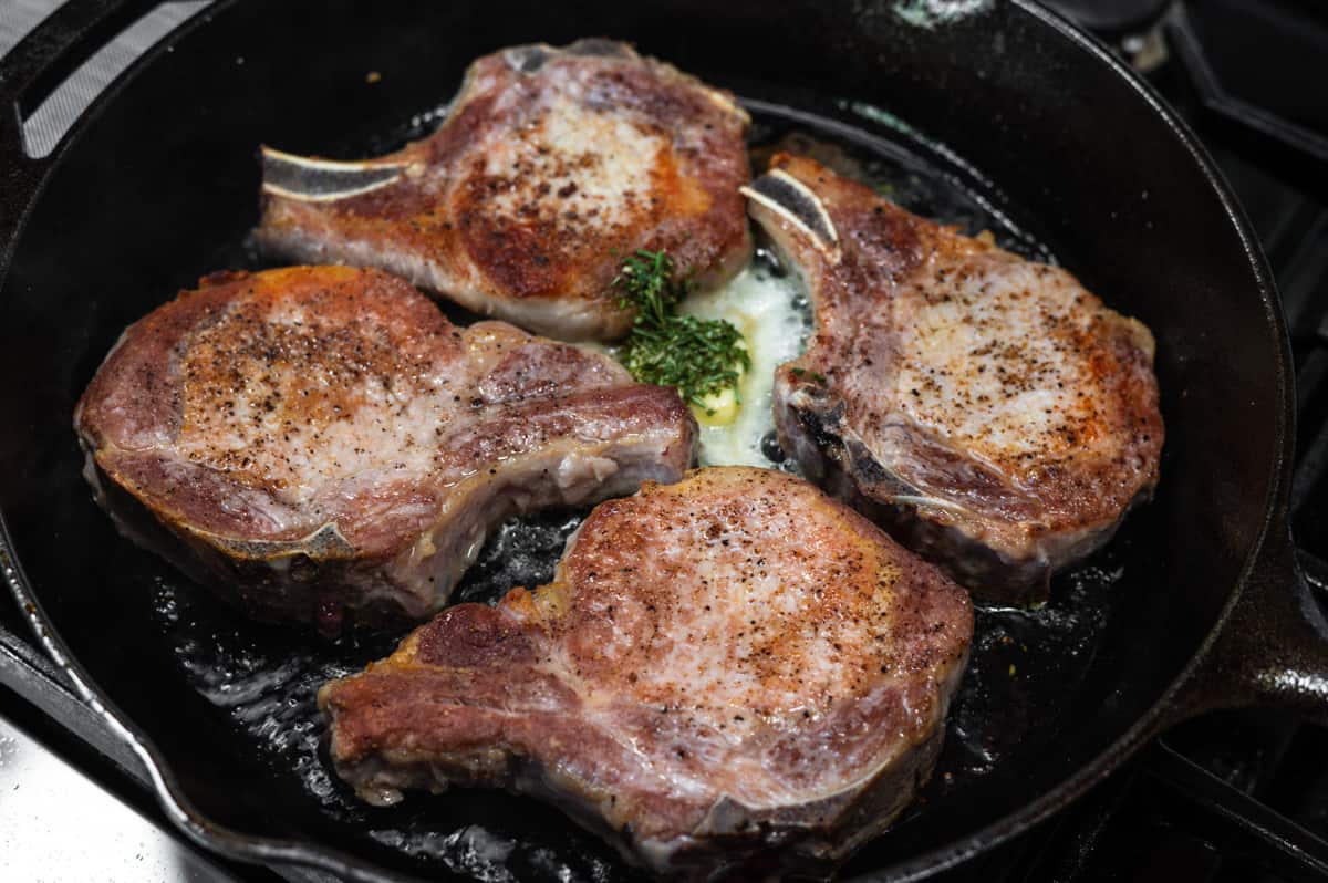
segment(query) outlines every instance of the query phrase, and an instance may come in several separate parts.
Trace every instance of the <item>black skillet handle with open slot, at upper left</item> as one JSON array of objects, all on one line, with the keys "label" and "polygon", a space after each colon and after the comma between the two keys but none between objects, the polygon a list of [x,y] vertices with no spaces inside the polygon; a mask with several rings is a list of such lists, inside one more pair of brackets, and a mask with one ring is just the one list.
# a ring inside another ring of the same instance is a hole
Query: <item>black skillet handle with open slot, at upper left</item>
[{"label": "black skillet handle with open slot, at upper left", "polygon": [[32,157],[24,120],[78,65],[159,0],[68,0],[0,57],[0,278],[58,150]]}]

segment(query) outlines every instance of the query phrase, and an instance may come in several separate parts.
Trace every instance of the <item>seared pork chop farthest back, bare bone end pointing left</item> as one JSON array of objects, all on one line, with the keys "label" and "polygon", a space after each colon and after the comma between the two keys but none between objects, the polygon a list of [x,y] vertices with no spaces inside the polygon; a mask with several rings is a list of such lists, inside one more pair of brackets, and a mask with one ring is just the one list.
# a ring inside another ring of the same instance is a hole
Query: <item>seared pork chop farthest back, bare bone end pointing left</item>
[{"label": "seared pork chop farthest back, bare bone end pointing left", "polygon": [[475,61],[446,121],[357,163],[264,150],[259,240],[390,270],[566,340],[631,324],[623,255],[668,251],[708,287],[750,252],[746,113],[726,92],[607,40]]}]

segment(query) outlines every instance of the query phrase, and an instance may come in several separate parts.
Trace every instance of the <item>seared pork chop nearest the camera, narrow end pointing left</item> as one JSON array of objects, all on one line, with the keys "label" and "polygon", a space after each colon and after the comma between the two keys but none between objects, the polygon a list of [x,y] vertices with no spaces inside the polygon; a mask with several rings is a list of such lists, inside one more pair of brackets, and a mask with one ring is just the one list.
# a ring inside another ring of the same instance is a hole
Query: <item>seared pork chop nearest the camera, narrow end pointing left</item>
[{"label": "seared pork chop nearest the camera, narrow end pointing left", "polygon": [[319,693],[337,771],[539,795],[656,872],[825,874],[926,781],[967,595],[785,473],[600,503],[554,582],[461,604]]}]

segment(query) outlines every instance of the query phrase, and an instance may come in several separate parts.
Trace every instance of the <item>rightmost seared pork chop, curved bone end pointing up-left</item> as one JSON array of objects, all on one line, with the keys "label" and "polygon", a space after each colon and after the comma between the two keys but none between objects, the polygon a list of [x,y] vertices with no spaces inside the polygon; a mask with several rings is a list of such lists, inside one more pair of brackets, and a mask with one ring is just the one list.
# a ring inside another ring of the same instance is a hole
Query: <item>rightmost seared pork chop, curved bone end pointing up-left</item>
[{"label": "rightmost seared pork chop, curved bone end pointing up-left", "polygon": [[1005,603],[1044,599],[1150,495],[1162,416],[1141,323],[809,159],[776,157],[748,195],[814,301],[774,389],[805,474]]}]

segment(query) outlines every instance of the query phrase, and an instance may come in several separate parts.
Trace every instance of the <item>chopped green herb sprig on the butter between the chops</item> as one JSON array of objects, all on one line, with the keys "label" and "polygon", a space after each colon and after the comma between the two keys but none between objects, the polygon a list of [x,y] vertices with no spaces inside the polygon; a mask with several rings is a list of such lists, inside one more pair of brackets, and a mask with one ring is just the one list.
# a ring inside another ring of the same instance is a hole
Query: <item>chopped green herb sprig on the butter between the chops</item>
[{"label": "chopped green herb sprig on the butter between the chops", "polygon": [[636,311],[622,349],[627,370],[645,384],[676,386],[684,401],[705,408],[706,397],[725,389],[737,396],[752,357],[732,323],[677,315],[691,287],[663,251],[629,255],[614,279],[619,305]]}]

